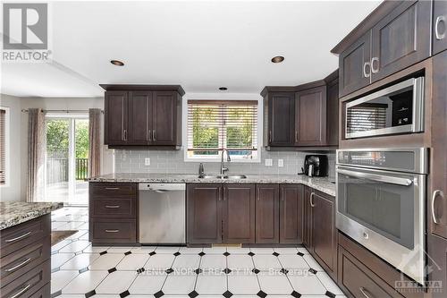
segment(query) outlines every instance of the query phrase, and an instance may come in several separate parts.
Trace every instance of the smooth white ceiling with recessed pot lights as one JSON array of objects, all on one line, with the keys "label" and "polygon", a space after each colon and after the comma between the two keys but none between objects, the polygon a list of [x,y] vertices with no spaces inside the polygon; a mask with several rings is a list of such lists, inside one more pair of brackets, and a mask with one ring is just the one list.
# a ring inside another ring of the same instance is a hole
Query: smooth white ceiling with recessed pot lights
[{"label": "smooth white ceiling with recessed pot lights", "polygon": [[[53,64],[2,64],[4,94],[96,97],[99,83],[258,93],[323,79],[329,51],[380,1],[56,2]],[[272,64],[283,55],[282,64]],[[109,63],[122,60],[124,67]]]}]

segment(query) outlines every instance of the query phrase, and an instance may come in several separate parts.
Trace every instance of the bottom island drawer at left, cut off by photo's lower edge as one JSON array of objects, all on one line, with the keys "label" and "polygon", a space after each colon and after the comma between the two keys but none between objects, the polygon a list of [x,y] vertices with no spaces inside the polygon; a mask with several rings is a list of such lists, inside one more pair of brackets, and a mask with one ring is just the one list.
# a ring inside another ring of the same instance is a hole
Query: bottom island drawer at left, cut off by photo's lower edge
[{"label": "bottom island drawer at left, cut off by photo's lower edge", "polygon": [[[42,286],[50,281],[51,265],[50,260],[31,269],[21,275],[8,285],[2,286],[2,297],[25,298],[36,293]],[[3,285],[3,284],[2,284]]]}]

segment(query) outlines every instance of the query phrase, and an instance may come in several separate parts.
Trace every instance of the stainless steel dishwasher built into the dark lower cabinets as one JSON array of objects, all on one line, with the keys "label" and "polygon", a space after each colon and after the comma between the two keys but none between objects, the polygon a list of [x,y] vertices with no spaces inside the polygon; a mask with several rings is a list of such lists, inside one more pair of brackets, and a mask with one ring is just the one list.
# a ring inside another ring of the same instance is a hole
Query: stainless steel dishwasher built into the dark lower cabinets
[{"label": "stainless steel dishwasher built into the dark lower cabinets", "polygon": [[139,183],[139,243],[186,243],[184,183]]}]

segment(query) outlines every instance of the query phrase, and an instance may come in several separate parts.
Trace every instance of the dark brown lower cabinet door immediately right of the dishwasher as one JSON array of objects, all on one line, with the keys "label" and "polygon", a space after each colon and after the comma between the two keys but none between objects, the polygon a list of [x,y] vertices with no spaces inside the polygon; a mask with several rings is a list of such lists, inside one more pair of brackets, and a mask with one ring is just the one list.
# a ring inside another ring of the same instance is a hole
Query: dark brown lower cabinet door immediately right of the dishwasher
[{"label": "dark brown lower cabinet door immediately right of the dishwasher", "polygon": [[222,243],[221,184],[188,184],[188,243]]}]

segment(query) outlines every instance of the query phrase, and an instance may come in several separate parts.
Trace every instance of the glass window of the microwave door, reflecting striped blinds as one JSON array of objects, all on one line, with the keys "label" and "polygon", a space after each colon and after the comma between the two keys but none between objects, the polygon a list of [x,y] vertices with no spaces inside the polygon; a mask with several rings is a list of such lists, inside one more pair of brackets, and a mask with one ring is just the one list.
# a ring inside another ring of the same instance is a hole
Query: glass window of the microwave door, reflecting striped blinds
[{"label": "glass window of the microwave door, reflecting striped blinds", "polygon": [[347,132],[365,132],[386,127],[388,105],[352,106],[346,115]]}]

